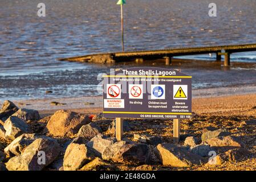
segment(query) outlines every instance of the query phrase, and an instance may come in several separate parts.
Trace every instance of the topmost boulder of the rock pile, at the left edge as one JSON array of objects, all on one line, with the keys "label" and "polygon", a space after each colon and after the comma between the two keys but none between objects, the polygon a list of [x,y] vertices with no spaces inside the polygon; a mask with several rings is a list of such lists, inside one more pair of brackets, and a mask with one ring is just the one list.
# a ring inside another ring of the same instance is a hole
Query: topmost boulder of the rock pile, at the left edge
[{"label": "topmost boulder of the rock pile, at the left edge", "polygon": [[0,119],[5,121],[9,118],[12,114],[14,114],[19,108],[13,104],[11,101],[3,102],[2,108],[0,110]]}]

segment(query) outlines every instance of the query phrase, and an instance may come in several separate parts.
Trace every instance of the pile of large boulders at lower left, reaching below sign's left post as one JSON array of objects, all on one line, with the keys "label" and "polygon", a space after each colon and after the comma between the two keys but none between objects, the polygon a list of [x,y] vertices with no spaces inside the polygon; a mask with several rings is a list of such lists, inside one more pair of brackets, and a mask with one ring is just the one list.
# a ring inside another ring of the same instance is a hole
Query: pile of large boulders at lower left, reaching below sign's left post
[{"label": "pile of large boulders at lower left, reaching below sign's left post", "polygon": [[[56,111],[44,121],[46,135],[40,135],[30,129],[30,121],[40,119],[38,111],[18,109],[6,101],[1,113],[5,113],[1,118],[1,138],[9,143],[0,149],[1,170],[42,170],[47,166],[86,170],[103,164],[111,166],[107,162],[146,164],[149,160],[147,144],[117,142],[103,135],[86,114]],[[63,144],[63,139],[68,142]]]}]

